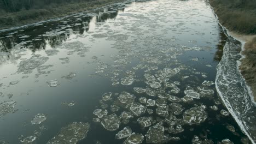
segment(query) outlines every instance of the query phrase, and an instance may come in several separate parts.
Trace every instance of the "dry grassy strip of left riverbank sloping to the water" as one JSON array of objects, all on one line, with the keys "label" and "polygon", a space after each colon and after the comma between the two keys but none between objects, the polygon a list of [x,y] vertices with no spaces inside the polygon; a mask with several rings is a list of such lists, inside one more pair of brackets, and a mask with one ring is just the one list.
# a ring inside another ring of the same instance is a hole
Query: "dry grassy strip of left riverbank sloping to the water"
[{"label": "dry grassy strip of left riverbank sloping to the water", "polygon": [[67,16],[124,0],[95,0],[45,5],[42,9],[23,9],[8,13],[0,9],[0,29],[23,26],[56,17]]}]

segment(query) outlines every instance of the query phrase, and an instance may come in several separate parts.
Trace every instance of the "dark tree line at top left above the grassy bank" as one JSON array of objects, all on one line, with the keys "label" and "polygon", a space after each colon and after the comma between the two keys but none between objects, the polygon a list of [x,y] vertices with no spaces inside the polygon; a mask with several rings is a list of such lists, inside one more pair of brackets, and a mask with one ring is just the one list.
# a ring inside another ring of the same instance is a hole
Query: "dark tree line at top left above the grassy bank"
[{"label": "dark tree line at top left above the grassy bank", "polygon": [[6,12],[17,12],[20,10],[40,9],[45,5],[75,3],[94,0],[0,0],[0,10]]}]

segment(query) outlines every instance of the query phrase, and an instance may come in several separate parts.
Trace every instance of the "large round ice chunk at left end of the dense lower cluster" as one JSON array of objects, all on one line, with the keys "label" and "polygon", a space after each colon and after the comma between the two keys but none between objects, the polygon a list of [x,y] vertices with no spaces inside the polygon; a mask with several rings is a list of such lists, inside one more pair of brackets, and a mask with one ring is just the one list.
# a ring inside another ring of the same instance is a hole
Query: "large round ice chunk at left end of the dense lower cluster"
[{"label": "large round ice chunk at left end of the dense lower cluster", "polygon": [[105,116],[101,121],[101,125],[109,131],[115,131],[119,129],[120,118],[113,113],[112,115]]}]

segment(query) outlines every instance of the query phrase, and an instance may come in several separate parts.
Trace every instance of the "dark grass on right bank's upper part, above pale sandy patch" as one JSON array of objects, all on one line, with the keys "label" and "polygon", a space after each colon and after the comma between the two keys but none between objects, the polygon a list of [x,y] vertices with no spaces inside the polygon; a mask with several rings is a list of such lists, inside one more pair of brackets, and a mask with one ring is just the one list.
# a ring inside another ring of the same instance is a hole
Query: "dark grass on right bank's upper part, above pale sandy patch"
[{"label": "dark grass on right bank's upper part, above pale sandy patch", "polygon": [[256,0],[209,0],[222,23],[230,31],[256,34]]}]

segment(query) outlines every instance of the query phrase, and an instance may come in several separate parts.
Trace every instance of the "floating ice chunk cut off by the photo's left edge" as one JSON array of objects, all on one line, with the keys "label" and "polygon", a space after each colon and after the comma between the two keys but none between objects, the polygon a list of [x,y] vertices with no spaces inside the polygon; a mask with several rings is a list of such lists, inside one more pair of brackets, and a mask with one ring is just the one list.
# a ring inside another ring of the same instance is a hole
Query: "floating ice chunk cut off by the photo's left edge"
[{"label": "floating ice chunk cut off by the photo's left edge", "polygon": [[4,101],[0,103],[0,118],[9,112],[13,112],[14,107],[16,106],[16,101]]}]

